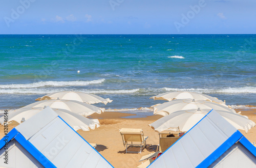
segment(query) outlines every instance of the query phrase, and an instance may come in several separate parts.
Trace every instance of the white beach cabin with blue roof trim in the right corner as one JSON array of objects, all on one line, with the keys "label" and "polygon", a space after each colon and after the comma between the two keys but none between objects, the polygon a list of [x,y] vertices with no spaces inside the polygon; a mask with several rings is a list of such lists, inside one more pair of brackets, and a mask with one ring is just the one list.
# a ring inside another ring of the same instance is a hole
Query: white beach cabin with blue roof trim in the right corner
[{"label": "white beach cabin with blue roof trim in the right corner", "polygon": [[148,167],[256,167],[256,148],[211,110]]}]

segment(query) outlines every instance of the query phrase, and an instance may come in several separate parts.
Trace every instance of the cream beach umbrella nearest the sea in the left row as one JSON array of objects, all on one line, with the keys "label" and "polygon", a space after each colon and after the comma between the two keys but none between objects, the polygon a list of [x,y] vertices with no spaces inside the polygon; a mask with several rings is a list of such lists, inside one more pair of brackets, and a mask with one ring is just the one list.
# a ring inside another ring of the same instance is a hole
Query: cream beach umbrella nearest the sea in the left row
[{"label": "cream beach umbrella nearest the sea in the left row", "polygon": [[43,97],[39,97],[35,100],[50,100],[50,99],[64,99],[64,100],[76,100],[88,104],[94,103],[111,103],[113,100],[109,98],[103,99],[102,97],[90,94],[90,93],[83,93],[83,92],[71,92],[71,91],[63,91],[63,92],[56,92],[45,95]]}]

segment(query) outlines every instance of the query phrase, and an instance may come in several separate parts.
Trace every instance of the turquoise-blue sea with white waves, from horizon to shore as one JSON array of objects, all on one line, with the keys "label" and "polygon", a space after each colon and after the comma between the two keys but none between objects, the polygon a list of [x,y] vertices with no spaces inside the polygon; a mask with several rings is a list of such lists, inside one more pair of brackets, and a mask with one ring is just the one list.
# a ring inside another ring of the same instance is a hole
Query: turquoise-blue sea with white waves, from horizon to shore
[{"label": "turquoise-blue sea with white waves, from horizon to shore", "polygon": [[256,108],[256,35],[0,35],[0,51],[2,111],[60,91],[148,115],[166,102],[150,97],[171,91]]}]

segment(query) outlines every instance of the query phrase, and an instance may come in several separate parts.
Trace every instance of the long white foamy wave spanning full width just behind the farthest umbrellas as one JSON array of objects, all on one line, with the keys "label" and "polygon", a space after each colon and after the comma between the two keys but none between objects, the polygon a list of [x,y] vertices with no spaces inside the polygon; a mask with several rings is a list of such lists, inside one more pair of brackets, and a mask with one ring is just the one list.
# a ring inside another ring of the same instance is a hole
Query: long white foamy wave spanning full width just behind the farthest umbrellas
[{"label": "long white foamy wave spanning full width just behind the farthest umbrellas", "polygon": [[[94,82],[97,83],[97,82]],[[56,84],[56,83],[55,83]],[[67,84],[67,83],[66,83]],[[85,83],[84,83],[85,84]],[[86,83],[87,85],[88,82]],[[55,85],[56,86],[56,85]],[[58,85],[62,86],[62,85]],[[69,86],[69,85],[64,85]],[[78,83],[73,86],[79,86]],[[20,87],[20,86],[19,86]],[[26,86],[27,87],[27,86]],[[70,88],[46,88],[46,87],[31,87],[31,88],[8,88],[1,89],[0,94],[49,94],[61,91],[75,91],[91,94],[136,94],[136,95],[154,95],[164,92],[196,92],[203,94],[249,94],[256,93],[255,87],[241,87],[241,88],[223,88],[223,89],[203,89],[203,88],[137,88],[137,89],[75,89]]]}]

